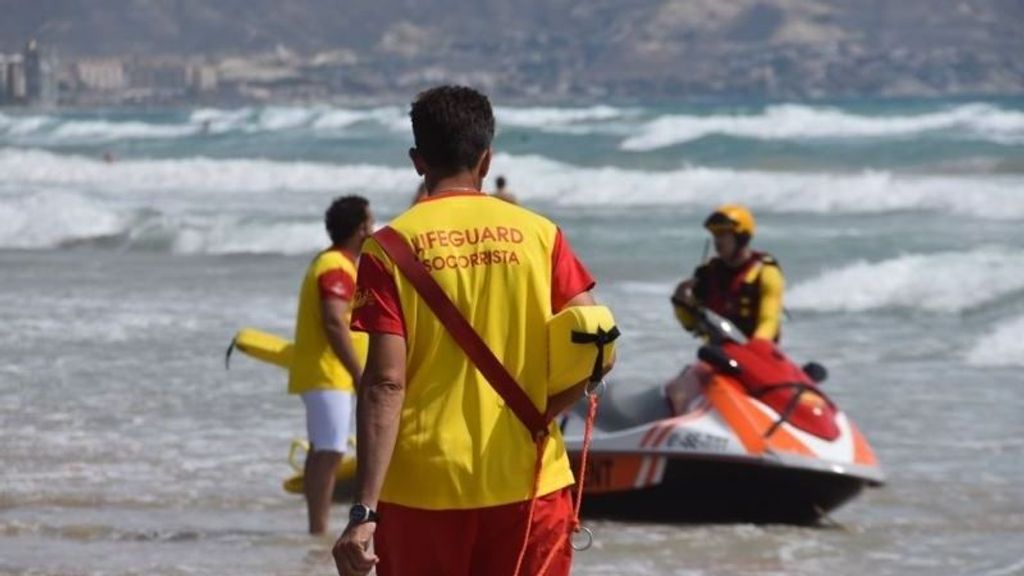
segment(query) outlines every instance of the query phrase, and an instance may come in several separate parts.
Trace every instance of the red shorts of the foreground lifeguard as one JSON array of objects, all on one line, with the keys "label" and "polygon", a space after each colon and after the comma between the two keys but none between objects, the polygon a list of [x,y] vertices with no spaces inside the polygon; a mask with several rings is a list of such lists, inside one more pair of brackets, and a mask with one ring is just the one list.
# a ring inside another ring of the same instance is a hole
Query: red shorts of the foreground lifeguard
[{"label": "red shorts of the foreground lifeguard", "polygon": [[[512,576],[529,502],[465,510],[424,510],[380,502],[374,534],[378,576]],[[519,576],[568,576],[572,546],[570,487],[537,499]],[[560,542],[560,544],[559,544]],[[552,552],[558,545],[559,549]]]}]

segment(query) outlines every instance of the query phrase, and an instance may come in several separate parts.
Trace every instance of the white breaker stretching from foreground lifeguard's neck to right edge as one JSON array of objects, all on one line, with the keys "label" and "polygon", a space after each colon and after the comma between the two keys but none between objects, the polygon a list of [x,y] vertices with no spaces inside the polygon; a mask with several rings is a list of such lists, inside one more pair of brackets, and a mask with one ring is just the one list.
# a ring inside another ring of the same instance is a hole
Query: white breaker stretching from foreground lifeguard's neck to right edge
[{"label": "white breaker stretching from foreground lifeguard's neck to right edge", "polygon": [[[913,176],[888,171],[769,172],[684,167],[645,171],[584,168],[537,156],[499,156],[495,173],[515,173],[526,200],[565,206],[712,206],[742,202],[761,212],[870,214],[936,211],[1024,218],[1018,176]],[[999,210],[992,210],[993,205]]]}]

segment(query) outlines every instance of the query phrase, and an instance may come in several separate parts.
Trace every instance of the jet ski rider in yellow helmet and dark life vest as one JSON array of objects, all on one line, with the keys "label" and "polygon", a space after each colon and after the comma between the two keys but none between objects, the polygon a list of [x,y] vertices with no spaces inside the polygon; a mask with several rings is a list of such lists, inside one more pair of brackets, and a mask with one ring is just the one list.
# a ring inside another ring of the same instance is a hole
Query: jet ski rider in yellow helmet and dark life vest
[{"label": "jet ski rider in yellow helmet and dark life vest", "polygon": [[[672,295],[676,318],[692,332],[697,322],[689,310],[706,306],[727,318],[749,338],[777,342],[785,280],[774,257],[751,248],[757,225],[754,214],[739,204],[725,204],[712,212],[703,225],[712,234],[718,255],[676,287]],[[686,412],[710,374],[711,368],[697,362],[666,384],[673,413]]]}]

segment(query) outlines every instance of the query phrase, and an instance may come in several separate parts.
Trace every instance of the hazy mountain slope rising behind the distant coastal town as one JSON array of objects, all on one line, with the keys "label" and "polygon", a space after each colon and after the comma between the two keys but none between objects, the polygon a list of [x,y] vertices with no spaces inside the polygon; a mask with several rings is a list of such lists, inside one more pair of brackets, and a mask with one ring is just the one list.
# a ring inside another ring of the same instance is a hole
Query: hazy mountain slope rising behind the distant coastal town
[{"label": "hazy mountain slope rising behind the distant coastal town", "polygon": [[297,54],[343,60],[311,74],[366,95],[441,80],[556,99],[1024,93],[1016,0],[0,0],[0,14],[2,51],[34,37],[67,59]]}]

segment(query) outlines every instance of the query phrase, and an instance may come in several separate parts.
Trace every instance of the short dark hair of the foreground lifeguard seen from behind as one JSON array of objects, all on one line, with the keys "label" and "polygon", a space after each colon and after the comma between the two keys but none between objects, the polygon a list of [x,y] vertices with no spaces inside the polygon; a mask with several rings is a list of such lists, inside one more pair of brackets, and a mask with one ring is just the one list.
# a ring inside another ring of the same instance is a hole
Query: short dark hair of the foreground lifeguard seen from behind
[{"label": "short dark hair of the foreground lifeguard seen from behind", "polygon": [[409,116],[420,156],[444,175],[474,167],[495,137],[490,100],[473,88],[446,85],[420,92]]}]

